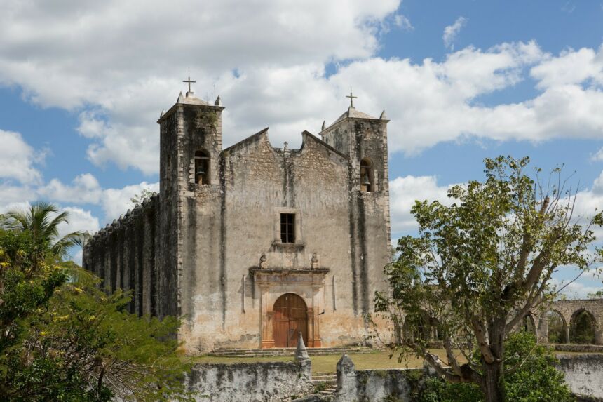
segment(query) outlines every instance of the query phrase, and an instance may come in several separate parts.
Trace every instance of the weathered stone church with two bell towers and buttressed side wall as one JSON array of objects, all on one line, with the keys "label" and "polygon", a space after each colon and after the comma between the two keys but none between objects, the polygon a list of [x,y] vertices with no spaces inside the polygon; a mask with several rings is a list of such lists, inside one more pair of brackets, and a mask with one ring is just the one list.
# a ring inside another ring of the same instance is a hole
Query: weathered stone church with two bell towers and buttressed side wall
[{"label": "weathered stone church with two bell towers and buttressed side wall", "polygon": [[161,115],[159,194],[90,238],[84,268],[132,312],[181,315],[191,354],[364,342],[391,250],[385,114],[222,149],[223,110],[188,92]]}]

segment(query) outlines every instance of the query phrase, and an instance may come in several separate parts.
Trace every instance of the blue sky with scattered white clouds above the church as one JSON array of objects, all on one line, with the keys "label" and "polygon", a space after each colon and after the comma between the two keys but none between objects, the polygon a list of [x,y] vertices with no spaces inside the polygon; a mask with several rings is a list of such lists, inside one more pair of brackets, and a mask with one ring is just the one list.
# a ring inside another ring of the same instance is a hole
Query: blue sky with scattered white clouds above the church
[{"label": "blue sky with scattered white clouds above the church", "polygon": [[350,87],[386,109],[395,236],[414,199],[499,154],[563,163],[580,212],[603,204],[603,1],[164,3],[0,4],[0,211],[48,199],[94,231],[156,189],[155,121],[189,69],[196,95],[222,97],[225,146],[266,126],[299,145]]}]

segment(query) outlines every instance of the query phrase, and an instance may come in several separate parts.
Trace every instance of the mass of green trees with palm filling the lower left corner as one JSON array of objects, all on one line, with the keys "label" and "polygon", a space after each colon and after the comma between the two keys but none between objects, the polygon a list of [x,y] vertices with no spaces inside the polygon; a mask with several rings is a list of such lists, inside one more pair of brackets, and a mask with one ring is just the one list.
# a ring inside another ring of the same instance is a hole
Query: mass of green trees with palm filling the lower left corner
[{"label": "mass of green trees with palm filling the lower left corner", "polygon": [[67,218],[38,203],[1,224],[2,400],[187,400],[189,364],[173,337],[179,321],[128,314],[129,293],[107,295],[62,261],[79,241],[77,233],[58,237]]}]

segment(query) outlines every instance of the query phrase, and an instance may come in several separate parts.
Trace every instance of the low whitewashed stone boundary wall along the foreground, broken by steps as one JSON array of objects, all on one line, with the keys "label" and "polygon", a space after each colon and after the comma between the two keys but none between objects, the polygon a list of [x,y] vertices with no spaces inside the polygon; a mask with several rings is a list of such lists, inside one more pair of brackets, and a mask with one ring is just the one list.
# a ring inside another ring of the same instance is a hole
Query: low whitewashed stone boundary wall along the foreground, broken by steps
[{"label": "low whitewashed stone boundary wall along the foreground, broken by steps", "polygon": [[[603,401],[603,355],[559,355],[557,369],[580,401]],[[356,370],[349,356],[337,363],[337,392],[334,402],[382,402],[394,398],[412,402],[423,378],[423,368]],[[196,401],[280,402],[301,398],[315,402],[322,395],[313,391],[311,362],[307,356],[294,362],[197,364],[187,378]],[[304,397],[305,396],[305,397]]]}]

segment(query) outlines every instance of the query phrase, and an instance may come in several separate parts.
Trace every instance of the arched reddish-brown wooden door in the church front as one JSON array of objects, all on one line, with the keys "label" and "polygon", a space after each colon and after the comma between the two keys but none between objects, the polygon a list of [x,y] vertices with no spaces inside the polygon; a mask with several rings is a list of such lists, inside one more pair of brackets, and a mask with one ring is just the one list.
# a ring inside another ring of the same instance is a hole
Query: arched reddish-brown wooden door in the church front
[{"label": "arched reddish-brown wooden door in the church front", "polygon": [[301,332],[308,344],[308,307],[302,297],[285,293],[274,302],[274,347],[296,347]]}]

